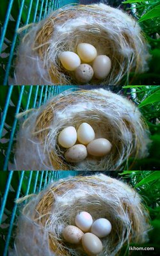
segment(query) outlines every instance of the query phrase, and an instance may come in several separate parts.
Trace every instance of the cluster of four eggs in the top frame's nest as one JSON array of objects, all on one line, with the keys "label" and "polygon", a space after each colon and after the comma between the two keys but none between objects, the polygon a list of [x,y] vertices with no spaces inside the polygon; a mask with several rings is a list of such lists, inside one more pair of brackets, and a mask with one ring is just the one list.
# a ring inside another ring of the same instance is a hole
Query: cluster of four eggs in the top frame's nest
[{"label": "cluster of four eggs in the top frame's nest", "polygon": [[78,44],[77,54],[64,51],[59,58],[61,65],[69,71],[74,71],[76,80],[81,83],[88,83],[93,76],[100,80],[105,79],[111,70],[109,57],[97,56],[97,49],[92,44]]}]

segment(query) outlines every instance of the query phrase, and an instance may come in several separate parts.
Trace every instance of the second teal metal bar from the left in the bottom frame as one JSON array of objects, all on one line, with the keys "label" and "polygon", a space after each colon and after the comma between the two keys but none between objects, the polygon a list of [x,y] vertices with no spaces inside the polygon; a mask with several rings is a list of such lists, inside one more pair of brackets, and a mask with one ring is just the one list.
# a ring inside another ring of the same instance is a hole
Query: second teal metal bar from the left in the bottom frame
[{"label": "second teal metal bar from the left in the bottom frame", "polygon": [[[19,187],[17,188],[17,194],[16,194],[16,197],[15,197],[15,200],[17,200],[19,198],[23,177],[24,177],[24,171],[21,172],[21,176],[20,176],[20,180],[19,180]],[[9,243],[10,243],[10,237],[11,237],[11,234],[12,234],[12,229],[13,229],[13,223],[14,223],[14,220],[15,220],[16,210],[17,210],[17,204],[15,204],[14,207],[13,207],[12,217],[11,217],[11,220],[10,220],[10,227],[8,229],[8,235],[6,237],[6,244],[5,244],[3,256],[6,256],[7,252],[8,252],[8,246],[9,246]]]}]

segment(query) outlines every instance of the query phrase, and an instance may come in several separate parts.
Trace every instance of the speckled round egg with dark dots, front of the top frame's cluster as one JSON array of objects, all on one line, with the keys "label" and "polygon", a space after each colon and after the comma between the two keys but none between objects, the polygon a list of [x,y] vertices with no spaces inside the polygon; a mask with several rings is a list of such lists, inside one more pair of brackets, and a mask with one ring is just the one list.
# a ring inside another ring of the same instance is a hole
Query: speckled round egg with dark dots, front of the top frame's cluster
[{"label": "speckled round egg with dark dots, front of the top frame's cluster", "polygon": [[88,64],[81,64],[75,70],[75,77],[81,83],[88,83],[93,77],[93,68]]}]

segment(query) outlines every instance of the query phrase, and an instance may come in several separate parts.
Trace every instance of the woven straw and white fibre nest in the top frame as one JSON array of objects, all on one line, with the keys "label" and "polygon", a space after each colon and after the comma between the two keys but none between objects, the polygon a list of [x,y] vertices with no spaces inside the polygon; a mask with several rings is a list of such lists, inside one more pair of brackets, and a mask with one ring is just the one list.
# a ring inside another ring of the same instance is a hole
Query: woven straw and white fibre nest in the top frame
[{"label": "woven straw and white fibre nest in the top frame", "polygon": [[17,52],[16,84],[77,84],[58,56],[76,52],[83,42],[94,45],[98,55],[109,56],[112,63],[106,79],[93,78],[89,84],[122,84],[129,72],[148,69],[148,44],[140,26],[127,13],[106,4],[65,6],[30,26]]}]

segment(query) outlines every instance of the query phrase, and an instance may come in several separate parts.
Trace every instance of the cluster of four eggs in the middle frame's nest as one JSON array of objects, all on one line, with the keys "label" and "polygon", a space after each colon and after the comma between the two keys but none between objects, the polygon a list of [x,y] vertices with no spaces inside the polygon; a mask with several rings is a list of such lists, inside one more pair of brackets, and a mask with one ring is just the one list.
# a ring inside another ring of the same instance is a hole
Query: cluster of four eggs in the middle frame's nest
[{"label": "cluster of four eggs in the middle frame's nest", "polygon": [[111,150],[109,140],[104,138],[95,140],[95,132],[92,126],[87,123],[79,125],[77,131],[73,126],[63,129],[58,136],[58,143],[62,147],[68,148],[65,152],[65,159],[70,163],[79,163],[88,154],[103,157]]}]

